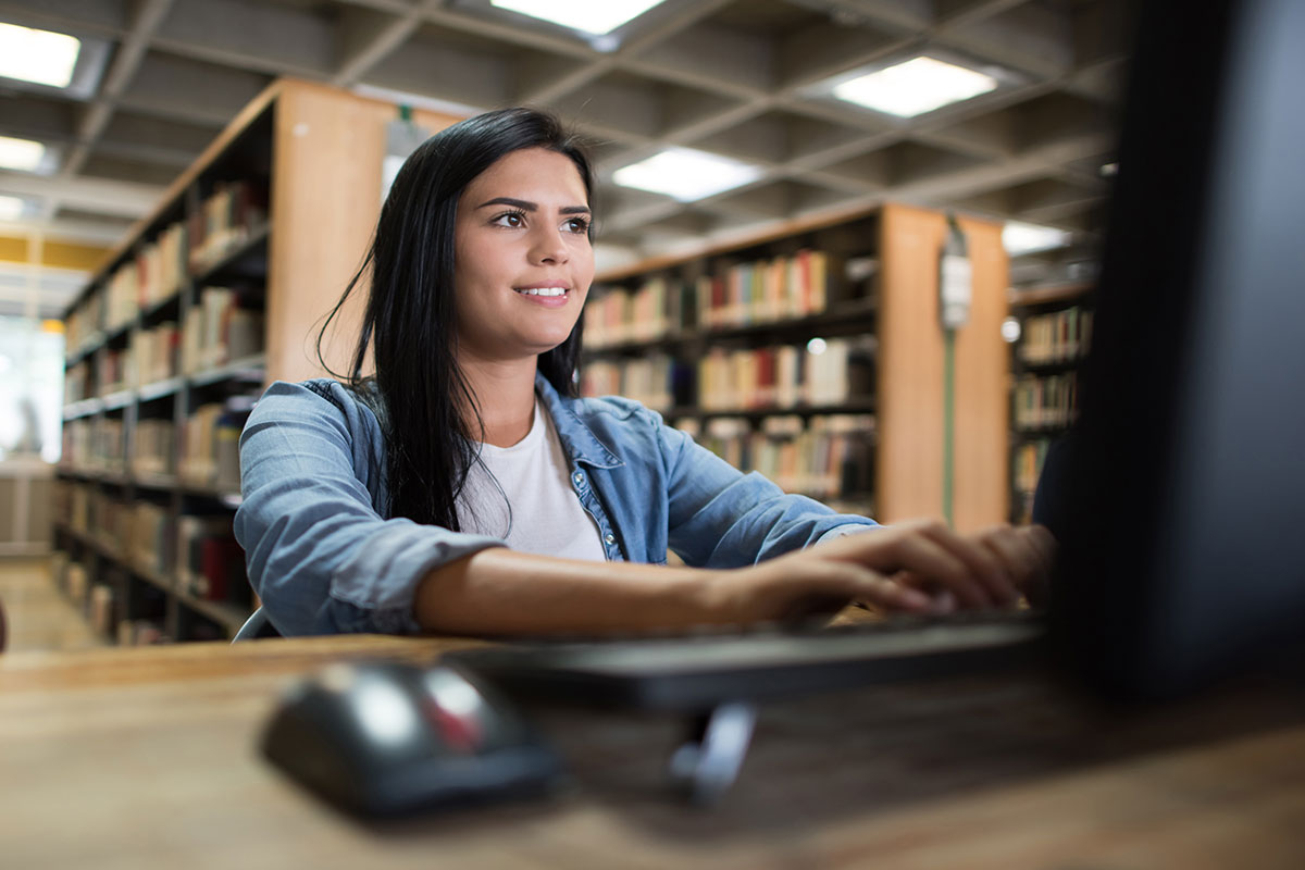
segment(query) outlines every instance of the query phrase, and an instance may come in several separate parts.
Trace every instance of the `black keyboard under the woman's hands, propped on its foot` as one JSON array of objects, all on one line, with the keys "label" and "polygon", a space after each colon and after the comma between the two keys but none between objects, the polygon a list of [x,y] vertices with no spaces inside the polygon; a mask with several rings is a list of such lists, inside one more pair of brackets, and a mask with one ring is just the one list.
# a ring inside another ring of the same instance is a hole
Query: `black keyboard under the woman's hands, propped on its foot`
[{"label": "black keyboard under the woman's hands, propped on its foot", "polygon": [[880,682],[954,677],[1040,659],[1027,612],[619,640],[526,642],[445,653],[514,698],[702,711]]}]

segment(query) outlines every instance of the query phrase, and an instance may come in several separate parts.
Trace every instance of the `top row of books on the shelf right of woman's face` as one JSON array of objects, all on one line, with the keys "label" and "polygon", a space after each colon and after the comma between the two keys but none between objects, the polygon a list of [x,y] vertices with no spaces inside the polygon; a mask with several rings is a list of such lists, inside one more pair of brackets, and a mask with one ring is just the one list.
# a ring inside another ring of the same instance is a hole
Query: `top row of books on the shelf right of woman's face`
[{"label": "top row of books on the shelf right of woman's face", "polygon": [[830,254],[804,249],[726,267],[696,280],[651,278],[638,287],[595,293],[585,313],[590,348],[655,340],[694,329],[763,323],[823,312]]}]

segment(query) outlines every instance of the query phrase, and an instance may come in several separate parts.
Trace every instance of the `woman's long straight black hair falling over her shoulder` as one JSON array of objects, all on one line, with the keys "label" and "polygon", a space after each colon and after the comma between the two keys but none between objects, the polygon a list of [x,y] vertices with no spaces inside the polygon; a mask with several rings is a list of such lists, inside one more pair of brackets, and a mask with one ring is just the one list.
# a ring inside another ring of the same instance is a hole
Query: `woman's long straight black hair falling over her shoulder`
[{"label": "woman's long straight black hair falling over her shoulder", "polygon": [[[592,198],[589,157],[553,115],[505,108],[454,124],[403,163],[381,206],[372,247],[317,335],[321,360],[328,326],[371,267],[350,373],[333,374],[377,411],[392,517],[461,531],[455,502],[478,462],[472,445],[483,440],[484,425],[454,353],[454,219],[458,197],[478,175],[527,147],[570,158]],[[583,317],[565,342],[539,355],[540,373],[562,395],[577,394],[582,331]],[[368,350],[376,373],[363,377]]]}]

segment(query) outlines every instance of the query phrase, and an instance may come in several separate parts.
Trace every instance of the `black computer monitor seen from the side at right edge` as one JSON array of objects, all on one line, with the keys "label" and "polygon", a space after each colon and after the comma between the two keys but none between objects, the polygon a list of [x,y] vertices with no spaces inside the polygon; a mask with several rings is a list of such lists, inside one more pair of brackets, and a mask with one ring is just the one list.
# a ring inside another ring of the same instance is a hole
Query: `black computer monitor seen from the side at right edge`
[{"label": "black computer monitor seen from the side at right edge", "polygon": [[1051,634],[1169,695],[1305,635],[1305,3],[1135,35]]}]

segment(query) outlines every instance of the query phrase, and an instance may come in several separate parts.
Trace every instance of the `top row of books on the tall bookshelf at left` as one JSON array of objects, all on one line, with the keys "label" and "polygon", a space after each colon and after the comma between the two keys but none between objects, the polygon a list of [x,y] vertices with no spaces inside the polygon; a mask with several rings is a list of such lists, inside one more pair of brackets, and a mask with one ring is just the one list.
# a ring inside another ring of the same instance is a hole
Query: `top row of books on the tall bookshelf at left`
[{"label": "top row of books on the tall bookshelf at left", "polygon": [[98,330],[130,323],[142,308],[176,293],[189,275],[215,265],[266,222],[262,187],[248,180],[217,184],[198,210],[138,248],[99,292],[69,313],[68,346],[80,348]]}]

